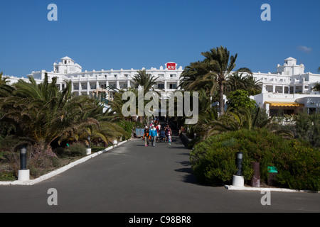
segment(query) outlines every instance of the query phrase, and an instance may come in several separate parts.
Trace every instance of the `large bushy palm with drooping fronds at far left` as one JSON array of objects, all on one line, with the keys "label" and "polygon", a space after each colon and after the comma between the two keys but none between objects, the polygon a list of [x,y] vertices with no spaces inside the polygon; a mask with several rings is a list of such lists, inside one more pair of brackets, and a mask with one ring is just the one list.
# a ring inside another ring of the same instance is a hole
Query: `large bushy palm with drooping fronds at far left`
[{"label": "large bushy palm with drooping fronds at far left", "polygon": [[41,84],[36,84],[33,77],[29,82],[20,80],[14,84],[12,95],[1,101],[0,108],[5,110],[1,121],[13,123],[18,134],[46,145],[67,131],[77,131],[92,123],[98,125],[95,118],[83,117],[85,106],[92,101],[87,96],[74,97],[70,82],[59,92],[56,82],[53,78],[49,83],[46,74]]}]

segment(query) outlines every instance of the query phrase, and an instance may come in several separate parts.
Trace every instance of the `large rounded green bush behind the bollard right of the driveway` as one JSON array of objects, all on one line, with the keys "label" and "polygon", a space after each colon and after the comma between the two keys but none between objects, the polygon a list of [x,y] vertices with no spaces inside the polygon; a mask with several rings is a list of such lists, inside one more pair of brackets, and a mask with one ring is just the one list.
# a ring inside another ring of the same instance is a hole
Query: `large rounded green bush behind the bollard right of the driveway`
[{"label": "large rounded green bush behind the bollard right of the driveway", "polygon": [[199,182],[230,183],[237,171],[235,156],[242,151],[242,174],[250,180],[251,162],[260,162],[260,180],[267,182],[268,166],[278,169],[276,180],[291,189],[320,189],[320,151],[301,140],[286,140],[266,129],[213,135],[191,152],[191,165]]}]

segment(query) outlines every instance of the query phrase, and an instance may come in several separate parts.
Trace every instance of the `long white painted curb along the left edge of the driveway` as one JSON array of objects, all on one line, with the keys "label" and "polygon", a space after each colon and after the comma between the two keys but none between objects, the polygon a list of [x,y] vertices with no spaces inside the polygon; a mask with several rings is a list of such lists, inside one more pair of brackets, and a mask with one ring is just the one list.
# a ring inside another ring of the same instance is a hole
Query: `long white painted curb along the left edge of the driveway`
[{"label": "long white painted curb along the left edge of the driveway", "polygon": [[14,182],[0,182],[0,185],[33,185],[33,184],[38,184],[39,182],[42,182],[43,180],[49,179],[51,177],[54,177],[56,175],[60,175],[60,173],[65,172],[66,170],[69,170],[72,167],[75,167],[76,165],[79,165],[82,162],[85,162],[87,160],[90,160],[92,157],[96,157],[97,155],[101,155],[103,153],[106,153],[109,150],[112,150],[115,147],[118,147],[119,145],[122,145],[124,143],[127,143],[129,140],[126,141],[122,141],[120,143],[118,143],[117,145],[113,145],[109,148],[106,148],[105,150],[101,150],[97,153],[93,153],[92,155],[88,155],[86,157],[82,157],[80,160],[77,160],[75,162],[72,162],[68,165],[65,165],[64,167],[61,167],[58,170],[54,170],[53,172],[49,172],[46,175],[43,175],[41,177],[38,177],[36,179],[30,179],[30,180],[26,180],[26,181],[14,181]]}]

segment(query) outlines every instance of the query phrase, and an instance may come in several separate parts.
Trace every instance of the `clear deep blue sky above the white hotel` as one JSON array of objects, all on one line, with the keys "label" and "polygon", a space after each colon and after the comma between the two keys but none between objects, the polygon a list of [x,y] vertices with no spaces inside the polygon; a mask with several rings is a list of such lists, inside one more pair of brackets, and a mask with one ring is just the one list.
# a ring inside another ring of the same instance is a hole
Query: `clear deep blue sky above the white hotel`
[{"label": "clear deep blue sky above the white hotel", "polygon": [[[48,4],[58,21],[48,21]],[[262,21],[270,4],[271,21]],[[186,67],[220,45],[237,68],[274,72],[287,57],[320,66],[320,1],[0,0],[0,72],[53,70],[66,55],[82,70],[140,70],[166,62]]]}]

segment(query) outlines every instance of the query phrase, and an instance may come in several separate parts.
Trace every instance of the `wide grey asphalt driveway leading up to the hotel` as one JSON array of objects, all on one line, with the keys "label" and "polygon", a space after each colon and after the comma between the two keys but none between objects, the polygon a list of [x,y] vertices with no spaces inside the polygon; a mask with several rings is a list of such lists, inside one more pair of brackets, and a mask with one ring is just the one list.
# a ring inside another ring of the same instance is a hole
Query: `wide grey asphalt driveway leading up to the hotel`
[{"label": "wide grey asphalt driveway leading up to the hotel", "polygon": [[[260,192],[197,184],[190,150],[174,139],[129,141],[33,186],[0,186],[0,212],[320,212],[319,193],[272,192],[262,206]],[[47,203],[50,188],[58,206]]]}]

